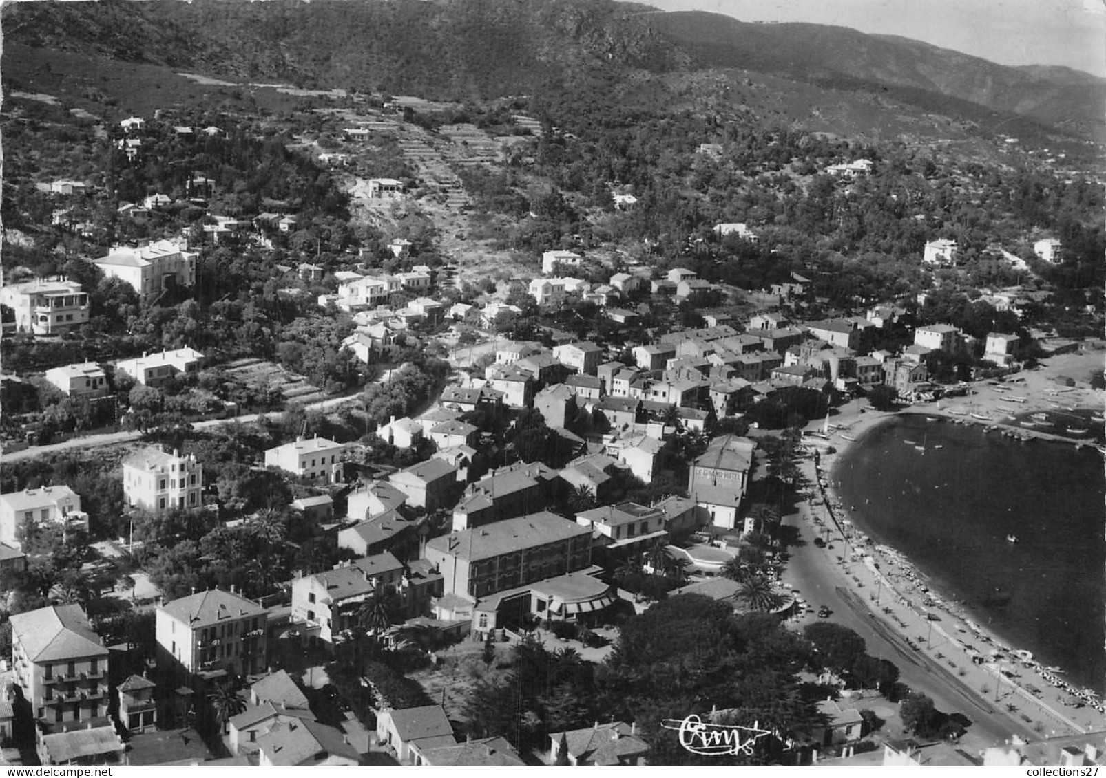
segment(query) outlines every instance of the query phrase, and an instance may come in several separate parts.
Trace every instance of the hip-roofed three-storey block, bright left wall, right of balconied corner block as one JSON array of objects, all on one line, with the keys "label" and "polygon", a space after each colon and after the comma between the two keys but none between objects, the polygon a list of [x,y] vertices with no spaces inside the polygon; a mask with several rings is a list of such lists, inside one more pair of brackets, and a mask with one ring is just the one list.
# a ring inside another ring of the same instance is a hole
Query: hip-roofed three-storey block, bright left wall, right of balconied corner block
[{"label": "hip-roofed three-storey block, bright left wall, right of balconied corner block", "polygon": [[259,672],[267,664],[268,618],[269,611],[253,600],[221,589],[159,604],[155,616],[158,685],[178,693],[187,686],[190,696],[206,693],[209,682],[228,673]]}]

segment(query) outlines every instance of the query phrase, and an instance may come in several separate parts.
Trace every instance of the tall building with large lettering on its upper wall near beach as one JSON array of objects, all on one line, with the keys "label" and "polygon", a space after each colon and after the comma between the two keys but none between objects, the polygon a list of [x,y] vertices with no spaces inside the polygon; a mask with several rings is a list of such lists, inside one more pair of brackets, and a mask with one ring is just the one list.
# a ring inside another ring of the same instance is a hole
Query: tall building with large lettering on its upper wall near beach
[{"label": "tall building with large lettering on its upper wall near beach", "polygon": [[713,439],[688,472],[688,494],[710,513],[711,524],[726,529],[738,525],[738,509],[749,486],[757,444],[748,438]]}]

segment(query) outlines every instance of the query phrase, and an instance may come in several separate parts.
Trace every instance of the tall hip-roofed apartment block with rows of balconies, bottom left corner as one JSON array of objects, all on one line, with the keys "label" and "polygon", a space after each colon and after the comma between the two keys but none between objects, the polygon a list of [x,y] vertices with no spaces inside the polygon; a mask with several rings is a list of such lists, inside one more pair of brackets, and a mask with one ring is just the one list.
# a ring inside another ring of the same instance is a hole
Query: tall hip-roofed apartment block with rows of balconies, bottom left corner
[{"label": "tall hip-roofed apartment block with rows of balconies, bottom left corner", "polygon": [[[42,727],[40,746],[42,734],[107,724],[108,651],[81,606],[48,606],[10,622],[12,681]],[[58,750],[52,758],[69,761]]]}]

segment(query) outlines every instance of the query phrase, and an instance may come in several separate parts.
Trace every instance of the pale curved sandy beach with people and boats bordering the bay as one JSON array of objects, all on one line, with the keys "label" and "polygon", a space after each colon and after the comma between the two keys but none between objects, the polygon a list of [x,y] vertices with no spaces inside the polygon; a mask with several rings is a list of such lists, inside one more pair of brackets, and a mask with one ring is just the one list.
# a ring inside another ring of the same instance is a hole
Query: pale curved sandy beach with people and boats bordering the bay
[{"label": "pale curved sandy beach with people and boats bordering the bay", "polygon": [[[1056,411],[1057,407],[1062,411],[1102,410],[1104,395],[1091,389],[1087,379],[1093,370],[1102,369],[1103,360],[1103,353],[1060,355],[1037,370],[1006,377],[1004,386],[1011,387],[1008,392],[975,382],[963,397],[916,404],[900,412],[948,416],[966,423],[1009,425],[1011,433],[1015,430],[1032,433],[1009,417]],[[1068,376],[1076,386],[1060,386],[1056,376]],[[1010,395],[1024,401],[1011,402]],[[1004,719],[1010,735],[1029,739],[1106,729],[1106,715],[1094,707],[1098,704],[1096,698],[1085,697],[1079,707],[1067,704],[1073,702],[1073,693],[1082,690],[1068,688],[1062,672],[1041,666],[1027,652],[1006,645],[997,634],[974,623],[962,608],[930,587],[925,575],[910,563],[909,549],[876,545],[852,525],[846,506],[841,505],[834,491],[833,467],[865,432],[894,416],[862,411],[866,406],[864,400],[851,402],[831,417],[835,431],[831,430],[828,443],[820,441],[815,446],[818,455],[804,463],[810,469],[808,477],[813,476],[813,488],[806,504],[800,506],[803,522],[830,543],[818,551],[842,574],[848,589],[848,604],[866,608],[873,619],[870,625],[897,635],[927,670],[938,671],[943,686],[961,698],[966,694],[973,696],[974,711],[970,709],[972,706],[963,711],[969,717],[985,713],[998,728],[1002,728]],[[956,412],[949,413],[950,410]],[[812,422],[808,430],[821,428],[821,423]]]}]

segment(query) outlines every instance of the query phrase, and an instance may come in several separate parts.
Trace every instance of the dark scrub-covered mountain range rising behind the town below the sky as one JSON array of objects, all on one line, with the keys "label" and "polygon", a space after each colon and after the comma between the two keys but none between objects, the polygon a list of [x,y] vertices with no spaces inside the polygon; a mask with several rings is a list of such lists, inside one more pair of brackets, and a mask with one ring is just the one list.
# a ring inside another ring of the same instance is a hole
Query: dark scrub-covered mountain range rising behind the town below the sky
[{"label": "dark scrub-covered mountain range rising behind the town below the sky", "polygon": [[[27,64],[11,62],[15,51],[38,50],[233,82],[457,102],[594,95],[648,109],[701,107],[684,99],[685,82],[696,82],[701,92],[701,76],[713,73],[719,91],[697,101],[723,113],[733,107],[729,97],[739,73],[796,93],[813,87],[845,105],[883,103],[886,122],[877,117],[872,126],[885,137],[904,115],[918,120],[931,114],[985,135],[1001,128],[1036,145],[1060,143],[1055,134],[1104,136],[1106,88],[1075,71],[1005,67],[846,28],[649,11],[611,0],[15,3],[3,9],[4,71],[41,80]],[[64,78],[53,81],[66,88]],[[791,107],[779,120],[837,129],[810,124],[817,111],[792,109],[796,102],[784,96]],[[753,97],[747,107],[762,108],[763,101]]]}]

